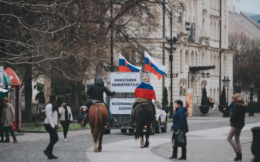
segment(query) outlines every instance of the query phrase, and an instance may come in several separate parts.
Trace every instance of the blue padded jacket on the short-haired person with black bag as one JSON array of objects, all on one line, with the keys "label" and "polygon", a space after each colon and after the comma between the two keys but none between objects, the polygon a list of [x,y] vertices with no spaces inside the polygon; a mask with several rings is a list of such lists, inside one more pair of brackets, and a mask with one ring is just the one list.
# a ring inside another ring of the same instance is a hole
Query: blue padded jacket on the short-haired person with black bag
[{"label": "blue padded jacket on the short-haired person with black bag", "polygon": [[177,131],[178,129],[181,129],[182,131],[188,132],[188,123],[186,118],[186,107],[179,107],[175,114],[173,115],[172,119],[172,129],[173,131]]}]

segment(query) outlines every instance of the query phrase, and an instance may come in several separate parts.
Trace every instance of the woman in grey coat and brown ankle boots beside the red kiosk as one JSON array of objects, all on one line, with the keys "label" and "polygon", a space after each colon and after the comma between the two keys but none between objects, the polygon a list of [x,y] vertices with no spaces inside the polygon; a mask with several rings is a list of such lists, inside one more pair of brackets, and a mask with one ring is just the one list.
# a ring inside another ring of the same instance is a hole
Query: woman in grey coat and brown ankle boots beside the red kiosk
[{"label": "woman in grey coat and brown ankle boots beside the red kiosk", "polygon": [[4,127],[5,131],[5,143],[10,142],[9,138],[9,132],[11,133],[14,142],[17,143],[16,136],[14,134],[14,131],[12,130],[12,121],[14,119],[14,107],[12,104],[8,102],[7,97],[3,97],[2,99],[3,103],[3,112],[2,112],[2,118],[1,118],[1,124]]}]

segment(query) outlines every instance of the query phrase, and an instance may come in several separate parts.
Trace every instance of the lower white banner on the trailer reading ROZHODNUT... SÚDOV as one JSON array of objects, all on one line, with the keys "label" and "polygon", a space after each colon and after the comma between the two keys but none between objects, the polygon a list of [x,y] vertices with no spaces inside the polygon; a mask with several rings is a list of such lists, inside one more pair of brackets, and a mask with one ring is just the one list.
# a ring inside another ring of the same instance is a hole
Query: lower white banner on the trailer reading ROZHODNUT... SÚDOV
[{"label": "lower white banner on the trailer reading ROZHODNUT... S\u00daDOV", "polygon": [[113,98],[110,100],[112,114],[131,114],[135,98]]}]

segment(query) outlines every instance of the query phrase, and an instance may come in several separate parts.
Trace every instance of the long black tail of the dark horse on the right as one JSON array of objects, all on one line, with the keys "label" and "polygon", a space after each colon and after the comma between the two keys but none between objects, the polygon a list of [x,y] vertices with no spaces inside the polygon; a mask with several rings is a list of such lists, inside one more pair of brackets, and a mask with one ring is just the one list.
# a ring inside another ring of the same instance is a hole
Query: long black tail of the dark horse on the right
[{"label": "long black tail of the dark horse on the right", "polygon": [[147,111],[146,107],[142,107],[140,109],[139,121],[138,121],[138,125],[137,125],[136,132],[135,132],[135,139],[136,140],[139,139],[140,136],[142,136],[142,132],[143,132],[143,129],[144,129],[146,116],[147,116],[146,111]]}]

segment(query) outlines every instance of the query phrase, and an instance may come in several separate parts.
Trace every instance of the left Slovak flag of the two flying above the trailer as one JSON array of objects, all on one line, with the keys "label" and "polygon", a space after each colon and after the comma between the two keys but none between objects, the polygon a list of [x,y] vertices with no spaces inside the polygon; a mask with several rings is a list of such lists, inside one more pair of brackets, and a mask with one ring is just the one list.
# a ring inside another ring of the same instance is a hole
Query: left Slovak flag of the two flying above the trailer
[{"label": "left Slovak flag of the two flying above the trailer", "polygon": [[119,53],[119,72],[139,72],[142,67],[133,66]]}]

